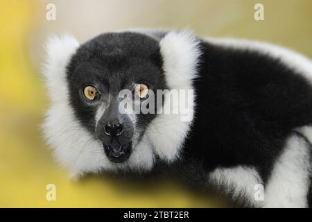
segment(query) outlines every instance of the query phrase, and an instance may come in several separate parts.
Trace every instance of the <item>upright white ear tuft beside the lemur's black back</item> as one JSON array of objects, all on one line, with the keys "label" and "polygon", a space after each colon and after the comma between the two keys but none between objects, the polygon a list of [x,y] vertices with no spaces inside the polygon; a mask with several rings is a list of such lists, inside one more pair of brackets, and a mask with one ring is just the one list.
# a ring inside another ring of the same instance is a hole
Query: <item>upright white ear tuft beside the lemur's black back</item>
[{"label": "upright white ear tuft beside the lemur's black back", "polygon": [[171,31],[160,41],[163,69],[171,89],[189,89],[200,57],[200,41],[193,32]]}]

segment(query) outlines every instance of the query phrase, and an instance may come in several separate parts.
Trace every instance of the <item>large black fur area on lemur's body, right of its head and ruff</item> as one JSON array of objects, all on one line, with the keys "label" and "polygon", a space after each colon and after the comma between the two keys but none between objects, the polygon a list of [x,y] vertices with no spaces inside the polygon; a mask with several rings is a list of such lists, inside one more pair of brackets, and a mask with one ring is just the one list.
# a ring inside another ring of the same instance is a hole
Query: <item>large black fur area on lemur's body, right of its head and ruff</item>
[{"label": "large black fur area on lemur's body, right of its head and ruff", "polygon": [[[207,42],[202,49],[202,60],[209,62],[201,63],[194,83],[197,114],[183,159],[202,163],[205,171],[256,167],[265,186],[286,138],[312,122],[311,84],[257,51]],[[244,198],[234,201],[246,203]]]}]

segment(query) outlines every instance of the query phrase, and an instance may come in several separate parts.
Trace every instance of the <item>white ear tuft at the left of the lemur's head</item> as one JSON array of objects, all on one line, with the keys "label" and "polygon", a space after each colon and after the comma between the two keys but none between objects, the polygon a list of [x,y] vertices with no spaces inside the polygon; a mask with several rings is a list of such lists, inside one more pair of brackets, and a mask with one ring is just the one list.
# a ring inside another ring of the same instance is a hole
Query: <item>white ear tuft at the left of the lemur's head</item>
[{"label": "white ear tuft at the left of the lemur's head", "polygon": [[46,43],[46,61],[42,74],[46,78],[46,85],[52,101],[62,99],[66,95],[66,67],[78,49],[79,43],[72,35],[62,37],[51,36]]}]

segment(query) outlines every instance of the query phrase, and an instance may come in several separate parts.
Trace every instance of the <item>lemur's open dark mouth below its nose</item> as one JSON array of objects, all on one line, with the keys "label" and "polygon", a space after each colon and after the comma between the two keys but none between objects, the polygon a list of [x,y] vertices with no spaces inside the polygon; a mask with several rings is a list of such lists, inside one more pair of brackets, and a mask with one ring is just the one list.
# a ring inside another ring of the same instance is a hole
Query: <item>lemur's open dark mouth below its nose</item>
[{"label": "lemur's open dark mouth below its nose", "polygon": [[113,140],[110,144],[103,144],[105,154],[111,162],[121,163],[129,159],[132,152],[132,142],[120,144]]}]

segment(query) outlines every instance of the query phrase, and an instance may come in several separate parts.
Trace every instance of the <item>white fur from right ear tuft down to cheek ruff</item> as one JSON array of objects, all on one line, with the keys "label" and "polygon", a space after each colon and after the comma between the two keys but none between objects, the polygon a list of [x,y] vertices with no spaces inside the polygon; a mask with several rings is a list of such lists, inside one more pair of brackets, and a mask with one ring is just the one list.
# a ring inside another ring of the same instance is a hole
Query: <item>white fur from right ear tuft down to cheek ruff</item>
[{"label": "white fur from right ear tuft down to cheek ruff", "polygon": [[[193,89],[193,79],[197,76],[196,69],[201,54],[200,41],[196,35],[187,30],[172,31],[165,35],[159,45],[168,88],[174,90]],[[180,106],[180,104],[171,103],[170,97],[165,96],[164,110],[175,109]],[[175,107],[172,105],[175,105]],[[177,110],[179,109],[177,108]],[[182,114],[182,112],[174,114],[172,112],[170,114],[157,115],[155,120],[153,120],[153,128],[157,132],[162,133],[152,132],[148,134],[148,137],[151,144],[153,144],[155,153],[162,160],[172,162],[179,157],[182,144],[185,137],[187,137],[193,120],[193,102],[187,103],[187,110],[188,114]],[[188,120],[182,121],[184,117],[188,117]]]}]

